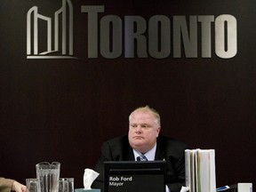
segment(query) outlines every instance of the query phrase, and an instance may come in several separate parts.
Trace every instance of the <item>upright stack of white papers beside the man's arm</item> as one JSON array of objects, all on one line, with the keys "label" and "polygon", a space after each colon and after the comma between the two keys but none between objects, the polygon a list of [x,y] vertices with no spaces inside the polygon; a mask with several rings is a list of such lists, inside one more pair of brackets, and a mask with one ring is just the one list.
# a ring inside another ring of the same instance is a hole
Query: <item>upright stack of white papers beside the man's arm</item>
[{"label": "upright stack of white papers beside the man's arm", "polygon": [[214,149],[185,150],[185,166],[189,192],[216,192]]}]

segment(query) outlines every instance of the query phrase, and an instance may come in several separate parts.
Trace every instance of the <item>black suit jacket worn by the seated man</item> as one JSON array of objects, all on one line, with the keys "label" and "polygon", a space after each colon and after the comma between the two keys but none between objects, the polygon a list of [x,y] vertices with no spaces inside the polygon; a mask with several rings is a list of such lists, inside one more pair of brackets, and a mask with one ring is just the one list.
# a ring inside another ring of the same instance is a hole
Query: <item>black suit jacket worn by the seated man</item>
[{"label": "black suit jacket worn by the seated man", "polygon": [[[185,186],[185,149],[188,146],[178,140],[159,135],[156,145],[155,160],[165,160],[167,163],[166,184],[171,192],[180,192]],[[132,148],[128,141],[128,135],[124,135],[104,142],[101,148],[101,156],[95,166],[95,172],[99,177],[93,182],[92,188],[100,188],[103,191],[103,162],[104,161],[134,161]]]}]

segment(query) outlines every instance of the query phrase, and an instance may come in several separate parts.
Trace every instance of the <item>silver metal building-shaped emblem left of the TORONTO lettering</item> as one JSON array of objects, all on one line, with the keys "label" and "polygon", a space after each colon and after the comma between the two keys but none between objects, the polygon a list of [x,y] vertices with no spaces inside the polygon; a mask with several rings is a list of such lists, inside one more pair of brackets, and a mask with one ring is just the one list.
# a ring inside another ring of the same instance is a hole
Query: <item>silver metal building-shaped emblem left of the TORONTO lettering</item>
[{"label": "silver metal building-shaped emblem left of the TORONTO lettering", "polygon": [[[76,59],[73,57],[73,5],[70,0],[62,0],[53,19],[40,14],[37,6],[28,10],[27,59]],[[46,35],[46,41],[39,41],[39,24],[46,24],[45,30],[40,31]]]}]

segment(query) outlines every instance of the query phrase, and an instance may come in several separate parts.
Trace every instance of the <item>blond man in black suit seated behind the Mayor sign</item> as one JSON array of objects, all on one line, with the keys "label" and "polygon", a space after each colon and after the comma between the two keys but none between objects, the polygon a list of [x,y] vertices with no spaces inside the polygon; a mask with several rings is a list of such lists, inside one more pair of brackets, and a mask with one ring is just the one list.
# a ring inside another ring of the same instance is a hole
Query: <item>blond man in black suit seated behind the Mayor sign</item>
[{"label": "blond man in black suit seated behind the Mayor sign", "polygon": [[178,140],[159,135],[160,116],[148,106],[135,109],[129,116],[129,132],[104,142],[101,156],[95,166],[99,177],[92,188],[103,191],[103,163],[105,161],[138,161],[144,155],[148,161],[164,160],[167,164],[166,191],[178,192],[185,186],[185,149]]}]

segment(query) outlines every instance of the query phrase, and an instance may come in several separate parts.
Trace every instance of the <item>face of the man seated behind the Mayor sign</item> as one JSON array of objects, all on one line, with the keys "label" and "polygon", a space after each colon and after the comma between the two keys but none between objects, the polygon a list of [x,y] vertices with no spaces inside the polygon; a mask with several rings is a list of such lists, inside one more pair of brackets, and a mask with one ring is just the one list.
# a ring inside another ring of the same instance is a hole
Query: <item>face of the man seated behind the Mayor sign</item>
[{"label": "face of the man seated behind the Mayor sign", "polygon": [[152,112],[134,112],[129,124],[129,143],[132,148],[146,153],[156,144],[160,126],[156,124],[156,117]]}]

